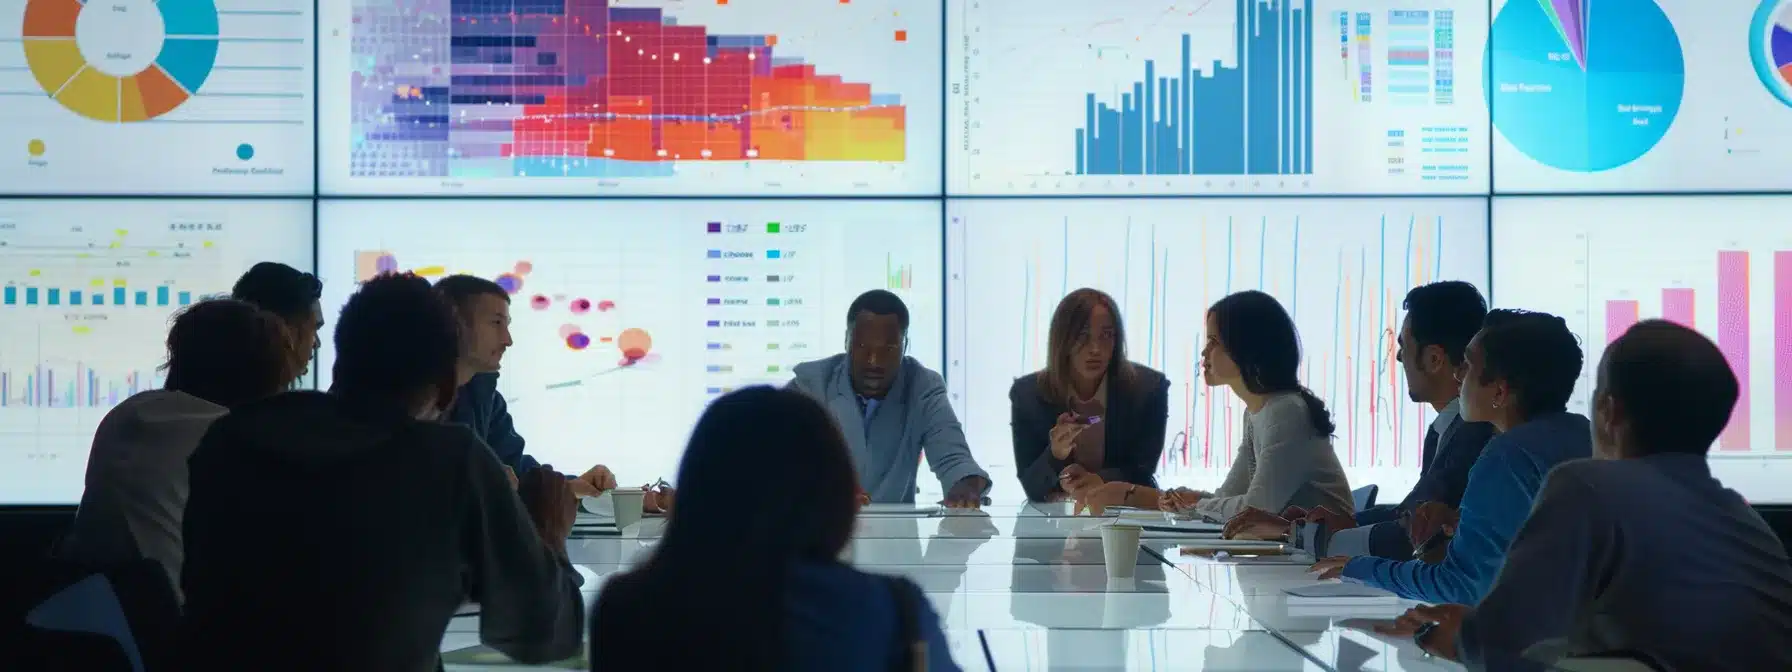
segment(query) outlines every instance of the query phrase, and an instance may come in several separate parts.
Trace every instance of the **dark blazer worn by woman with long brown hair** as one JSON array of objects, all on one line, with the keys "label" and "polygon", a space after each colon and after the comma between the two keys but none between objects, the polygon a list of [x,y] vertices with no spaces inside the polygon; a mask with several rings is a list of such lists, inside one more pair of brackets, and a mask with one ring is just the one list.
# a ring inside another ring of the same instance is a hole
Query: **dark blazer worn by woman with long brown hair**
[{"label": "dark blazer worn by woman with long brown hair", "polygon": [[[1163,457],[1163,426],[1170,418],[1170,380],[1154,369],[1133,364],[1138,376],[1133,385],[1107,382],[1106,453],[1102,480],[1124,480],[1134,486],[1158,487],[1158,459]],[[1025,375],[1009,387],[1009,405],[1014,430],[1014,468],[1020,486],[1032,502],[1043,502],[1052,493],[1063,493],[1057,475],[1070,461],[1052,457],[1052,426],[1057,416],[1070,410],[1050,403],[1039,394],[1039,376]]]}]

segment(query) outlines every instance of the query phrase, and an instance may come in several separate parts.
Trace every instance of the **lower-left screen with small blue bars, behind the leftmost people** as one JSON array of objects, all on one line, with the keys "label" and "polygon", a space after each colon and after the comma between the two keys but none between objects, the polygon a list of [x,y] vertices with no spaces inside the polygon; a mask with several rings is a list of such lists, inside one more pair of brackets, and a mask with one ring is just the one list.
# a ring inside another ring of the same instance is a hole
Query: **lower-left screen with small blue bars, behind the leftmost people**
[{"label": "lower-left screen with small blue bars, behind the leftmost people", "polygon": [[73,504],[93,428],[161,387],[176,310],[310,269],[310,201],[0,201],[0,493]]}]

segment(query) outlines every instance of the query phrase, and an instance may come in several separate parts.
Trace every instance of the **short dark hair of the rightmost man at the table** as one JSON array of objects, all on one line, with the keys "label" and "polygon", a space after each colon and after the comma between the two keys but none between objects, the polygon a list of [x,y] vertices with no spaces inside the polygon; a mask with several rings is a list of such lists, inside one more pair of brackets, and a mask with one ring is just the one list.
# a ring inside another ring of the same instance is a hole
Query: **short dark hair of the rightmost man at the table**
[{"label": "short dark hair of the rightmost man at the table", "polygon": [[1624,405],[1638,453],[1704,455],[1742,385],[1711,339],[1665,319],[1633,324],[1606,348],[1604,394]]}]

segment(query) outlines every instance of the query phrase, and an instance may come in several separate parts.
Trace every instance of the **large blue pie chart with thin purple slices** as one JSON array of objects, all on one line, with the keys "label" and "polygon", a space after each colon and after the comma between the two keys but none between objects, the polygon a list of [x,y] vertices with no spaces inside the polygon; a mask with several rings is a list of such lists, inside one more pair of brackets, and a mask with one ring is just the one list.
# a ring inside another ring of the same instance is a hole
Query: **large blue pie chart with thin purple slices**
[{"label": "large blue pie chart with thin purple slices", "polygon": [[1552,168],[1600,172],[1674,125],[1686,63],[1654,0],[1509,0],[1489,38],[1493,127]]}]

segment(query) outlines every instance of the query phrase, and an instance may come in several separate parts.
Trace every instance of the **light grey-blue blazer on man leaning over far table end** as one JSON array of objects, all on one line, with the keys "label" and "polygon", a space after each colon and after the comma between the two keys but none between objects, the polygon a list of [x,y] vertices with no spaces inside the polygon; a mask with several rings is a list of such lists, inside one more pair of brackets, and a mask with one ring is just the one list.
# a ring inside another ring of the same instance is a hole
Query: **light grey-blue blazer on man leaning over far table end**
[{"label": "light grey-blue blazer on man leaning over far table end", "polygon": [[871,495],[871,502],[914,502],[914,478],[923,455],[941,489],[952,489],[966,477],[984,477],[989,482],[989,473],[971,457],[964,426],[946,400],[946,380],[914,357],[901,358],[896,385],[878,401],[869,426],[858,394],[853,392],[844,353],[797,364],[790,387],[833,412],[853,450],[858,484]]}]

